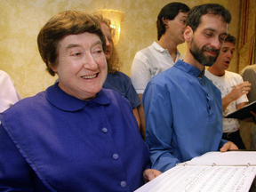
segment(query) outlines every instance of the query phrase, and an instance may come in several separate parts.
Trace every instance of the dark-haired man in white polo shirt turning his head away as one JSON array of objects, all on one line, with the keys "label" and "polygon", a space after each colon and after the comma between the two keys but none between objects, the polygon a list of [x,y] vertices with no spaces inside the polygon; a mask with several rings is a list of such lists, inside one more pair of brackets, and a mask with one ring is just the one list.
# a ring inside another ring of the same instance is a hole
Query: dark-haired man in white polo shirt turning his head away
[{"label": "dark-haired man in white polo shirt turning his head away", "polygon": [[177,46],[185,42],[183,32],[189,10],[187,4],[166,4],[156,21],[158,43],[154,42],[136,53],[132,61],[131,79],[140,100],[153,76],[171,68],[177,60],[184,59]]}]

